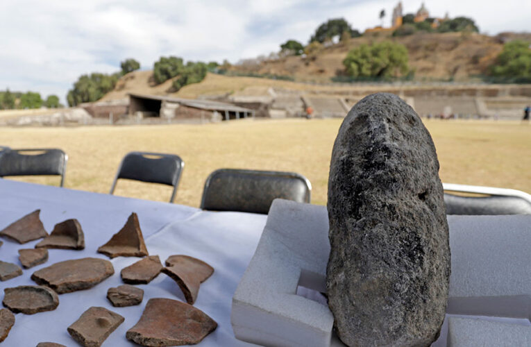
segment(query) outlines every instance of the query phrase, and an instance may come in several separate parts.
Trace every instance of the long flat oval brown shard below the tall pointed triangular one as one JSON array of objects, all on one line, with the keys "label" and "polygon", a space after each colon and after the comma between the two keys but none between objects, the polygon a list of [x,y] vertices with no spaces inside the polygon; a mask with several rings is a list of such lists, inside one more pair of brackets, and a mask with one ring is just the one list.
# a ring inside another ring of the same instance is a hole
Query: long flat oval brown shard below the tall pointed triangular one
[{"label": "long flat oval brown shard below the tall pointed triangular one", "polygon": [[57,262],[35,271],[31,279],[63,294],[94,287],[113,273],[115,269],[108,260],[87,257]]}]

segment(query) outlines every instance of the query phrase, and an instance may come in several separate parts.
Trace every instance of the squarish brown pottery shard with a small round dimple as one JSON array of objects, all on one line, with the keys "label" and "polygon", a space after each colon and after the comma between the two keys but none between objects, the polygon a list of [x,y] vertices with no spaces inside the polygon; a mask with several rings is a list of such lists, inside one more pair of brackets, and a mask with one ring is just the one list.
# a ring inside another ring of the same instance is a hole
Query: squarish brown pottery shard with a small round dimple
[{"label": "squarish brown pottery shard with a small round dimple", "polygon": [[81,346],[99,347],[124,322],[124,317],[105,307],[90,307],[68,328],[68,333]]}]

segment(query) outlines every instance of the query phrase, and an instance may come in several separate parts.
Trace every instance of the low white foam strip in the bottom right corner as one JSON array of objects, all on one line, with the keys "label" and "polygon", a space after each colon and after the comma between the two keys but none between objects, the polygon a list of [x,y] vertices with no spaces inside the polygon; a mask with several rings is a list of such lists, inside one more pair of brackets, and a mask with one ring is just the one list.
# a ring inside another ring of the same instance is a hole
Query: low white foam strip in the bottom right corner
[{"label": "low white foam strip in the bottom right corner", "polygon": [[531,346],[531,326],[448,317],[447,346]]}]

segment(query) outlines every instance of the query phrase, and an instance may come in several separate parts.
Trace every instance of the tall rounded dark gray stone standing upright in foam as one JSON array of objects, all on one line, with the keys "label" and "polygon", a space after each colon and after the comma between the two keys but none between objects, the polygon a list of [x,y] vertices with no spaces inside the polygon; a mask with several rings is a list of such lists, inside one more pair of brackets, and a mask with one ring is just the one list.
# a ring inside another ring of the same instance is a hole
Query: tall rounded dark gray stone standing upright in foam
[{"label": "tall rounded dark gray stone standing upright in foam", "polygon": [[348,346],[429,346],[450,278],[439,162],[428,130],[393,94],[357,103],[328,181],[328,305]]}]

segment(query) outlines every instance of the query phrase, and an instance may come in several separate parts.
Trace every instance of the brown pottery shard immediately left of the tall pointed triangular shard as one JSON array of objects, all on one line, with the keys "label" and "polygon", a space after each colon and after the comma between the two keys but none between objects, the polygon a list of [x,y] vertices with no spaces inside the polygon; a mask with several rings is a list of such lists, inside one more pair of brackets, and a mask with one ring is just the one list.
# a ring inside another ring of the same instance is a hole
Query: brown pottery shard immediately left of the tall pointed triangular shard
[{"label": "brown pottery shard immediately left of the tall pointed triangular shard", "polygon": [[36,244],[35,248],[84,249],[85,235],[81,224],[77,219],[57,223],[51,234]]}]

